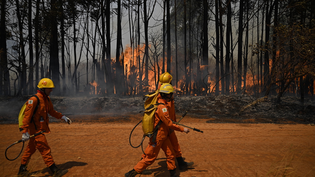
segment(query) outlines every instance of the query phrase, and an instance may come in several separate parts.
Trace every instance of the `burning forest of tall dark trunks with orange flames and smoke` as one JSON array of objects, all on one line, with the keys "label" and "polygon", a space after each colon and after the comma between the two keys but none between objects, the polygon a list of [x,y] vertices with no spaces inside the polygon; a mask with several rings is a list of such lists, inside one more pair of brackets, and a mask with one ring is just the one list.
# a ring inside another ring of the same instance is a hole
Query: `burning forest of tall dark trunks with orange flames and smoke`
[{"label": "burning forest of tall dark trunks with orange flames and smoke", "polygon": [[[34,94],[46,77],[57,96],[137,97],[155,91],[160,75],[169,72],[178,95],[313,98],[312,4],[166,2],[106,2],[106,10],[66,2],[55,11],[46,8],[49,2],[36,8],[20,7],[23,1],[4,4],[1,94]],[[21,20],[31,15],[26,8],[36,13],[35,21]],[[54,27],[46,29],[48,24]]]}]

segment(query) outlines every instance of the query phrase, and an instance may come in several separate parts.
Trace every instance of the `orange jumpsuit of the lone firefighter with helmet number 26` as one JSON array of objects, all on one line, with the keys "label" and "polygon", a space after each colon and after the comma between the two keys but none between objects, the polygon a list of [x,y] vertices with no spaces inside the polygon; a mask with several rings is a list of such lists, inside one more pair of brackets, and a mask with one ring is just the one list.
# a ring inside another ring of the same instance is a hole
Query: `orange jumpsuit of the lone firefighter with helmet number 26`
[{"label": "orange jumpsuit of the lone firefighter with helmet number 26", "polygon": [[[33,118],[37,130],[35,129],[34,123],[30,123],[33,111],[37,105],[37,98],[35,97],[31,97],[26,103],[25,117],[23,119],[23,125],[21,126],[21,128],[23,129],[23,133],[28,132],[30,135],[41,132],[43,130],[46,130],[44,134],[50,133],[48,126],[48,113],[57,119],[61,119],[61,117],[63,116],[61,113],[54,110],[50,98],[47,99],[47,96],[40,90],[37,90],[37,92],[38,93],[36,95],[39,98],[40,103]],[[43,117],[42,120],[41,117]],[[51,150],[44,134],[37,135],[35,138],[30,138],[22,156],[21,164],[27,164],[36,149],[38,149],[38,151],[42,154],[47,167],[54,164],[53,157],[50,154]]]}]

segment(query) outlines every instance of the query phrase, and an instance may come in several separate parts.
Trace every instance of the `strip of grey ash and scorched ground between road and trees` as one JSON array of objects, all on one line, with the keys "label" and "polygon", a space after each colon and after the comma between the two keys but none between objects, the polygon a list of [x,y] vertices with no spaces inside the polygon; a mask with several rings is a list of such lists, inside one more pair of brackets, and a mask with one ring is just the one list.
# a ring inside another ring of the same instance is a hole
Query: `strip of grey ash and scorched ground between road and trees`
[{"label": "strip of grey ash and scorched ground between road and trees", "polygon": [[[0,96],[0,123],[18,123],[21,107],[31,97]],[[142,97],[50,97],[54,109],[76,121],[128,122],[142,116]],[[315,100],[286,96],[280,102],[268,98],[241,111],[256,99],[249,95],[175,96],[176,115],[186,110],[189,117],[207,119],[206,123],[303,123],[314,124]],[[107,118],[106,118],[107,117]],[[54,118],[50,122],[59,122]]]}]

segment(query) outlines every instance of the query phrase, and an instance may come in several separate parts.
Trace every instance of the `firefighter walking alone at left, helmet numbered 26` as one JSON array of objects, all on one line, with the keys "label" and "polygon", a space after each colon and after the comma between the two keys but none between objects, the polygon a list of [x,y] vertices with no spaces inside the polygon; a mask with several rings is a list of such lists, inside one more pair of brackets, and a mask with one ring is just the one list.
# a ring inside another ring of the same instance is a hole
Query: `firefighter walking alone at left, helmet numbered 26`
[{"label": "firefighter walking alone at left, helmet numbered 26", "polygon": [[[40,90],[37,90],[36,95],[39,98],[40,104],[36,113],[34,114],[32,121],[31,117],[33,116],[33,111],[37,106],[37,98],[31,97],[26,103],[25,117],[23,119],[23,125],[21,126],[21,128],[23,129],[22,141],[30,141],[28,142],[28,145],[26,146],[26,149],[22,156],[21,166],[18,175],[28,174],[28,171],[26,170],[27,163],[29,162],[32,154],[34,154],[36,149],[38,149],[38,151],[42,154],[45,164],[47,165],[47,167],[50,168],[50,170],[54,174],[54,177],[62,176],[68,172],[67,169],[60,170],[56,167],[53,157],[51,156],[50,147],[45,137],[45,134],[50,133],[50,129],[48,126],[48,113],[49,115],[57,119],[62,119],[69,124],[71,123],[71,120],[69,118],[54,110],[54,106],[49,98],[49,94],[50,92],[52,92],[52,88],[54,87],[55,86],[53,81],[48,78],[43,78],[38,83],[38,88],[40,88]],[[43,130],[46,130],[44,134],[37,135],[35,138],[29,138],[30,134],[33,135]]]}]

